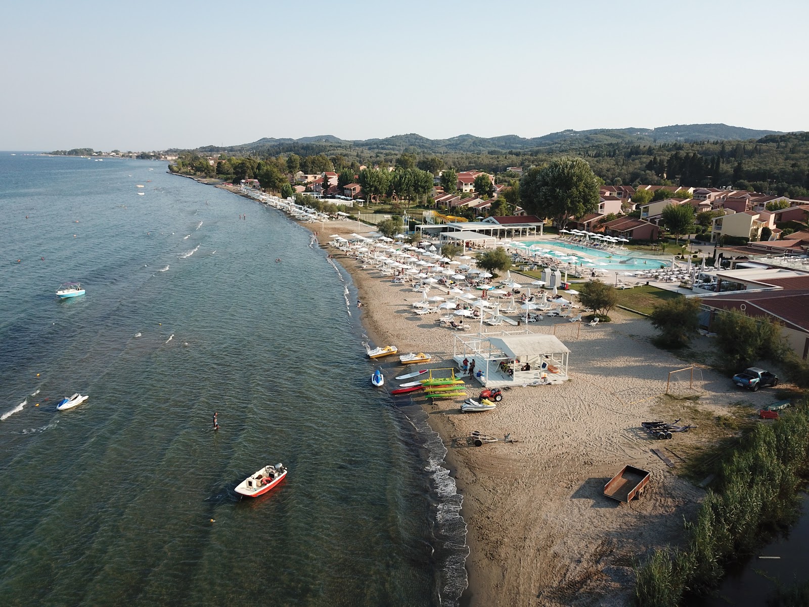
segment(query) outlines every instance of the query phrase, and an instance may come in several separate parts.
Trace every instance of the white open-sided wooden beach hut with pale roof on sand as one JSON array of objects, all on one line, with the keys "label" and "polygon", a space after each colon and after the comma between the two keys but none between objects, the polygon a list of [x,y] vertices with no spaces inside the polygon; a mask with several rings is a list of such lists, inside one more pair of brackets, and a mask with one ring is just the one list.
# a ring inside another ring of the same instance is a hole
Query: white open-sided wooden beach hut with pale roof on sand
[{"label": "white open-sided wooden beach hut with pale roof on sand", "polygon": [[[570,350],[544,333],[455,335],[453,359],[475,359],[476,379],[487,388],[561,384],[568,377]],[[481,376],[477,376],[481,371]]]}]

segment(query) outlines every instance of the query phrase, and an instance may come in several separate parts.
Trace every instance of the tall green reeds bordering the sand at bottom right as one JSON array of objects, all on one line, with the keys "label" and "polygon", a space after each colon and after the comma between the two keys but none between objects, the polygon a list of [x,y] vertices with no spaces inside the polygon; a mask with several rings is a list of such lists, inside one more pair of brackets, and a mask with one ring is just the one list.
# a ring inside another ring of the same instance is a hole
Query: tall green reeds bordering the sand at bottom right
[{"label": "tall green reeds bordering the sand at bottom right", "polygon": [[809,473],[809,399],[773,424],[760,424],[720,458],[713,490],[685,523],[683,550],[656,550],[636,567],[642,607],[675,607],[684,594],[716,588],[724,565],[751,554],[769,533],[792,522]]}]

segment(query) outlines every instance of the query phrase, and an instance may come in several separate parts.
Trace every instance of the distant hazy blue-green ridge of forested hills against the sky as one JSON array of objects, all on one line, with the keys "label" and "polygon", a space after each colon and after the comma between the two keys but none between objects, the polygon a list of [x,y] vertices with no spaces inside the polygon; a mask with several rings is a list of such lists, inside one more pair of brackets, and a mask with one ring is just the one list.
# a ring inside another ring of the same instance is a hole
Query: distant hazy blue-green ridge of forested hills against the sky
[{"label": "distant hazy blue-green ridge of forested hills against the sky", "polygon": [[451,154],[459,152],[496,153],[506,151],[569,151],[582,146],[624,143],[631,145],[649,145],[667,142],[697,142],[744,140],[778,134],[773,130],[745,129],[728,125],[671,125],[656,129],[592,129],[564,130],[542,137],[523,138],[517,135],[501,135],[499,137],[476,137],[471,134],[458,135],[449,139],[428,139],[418,134],[394,135],[382,139],[346,140],[334,135],[318,135],[315,137],[261,138],[258,141],[237,146],[205,146],[199,151],[228,152],[236,154],[298,154],[345,151],[352,148],[374,152],[397,152],[409,148],[431,154]]}]

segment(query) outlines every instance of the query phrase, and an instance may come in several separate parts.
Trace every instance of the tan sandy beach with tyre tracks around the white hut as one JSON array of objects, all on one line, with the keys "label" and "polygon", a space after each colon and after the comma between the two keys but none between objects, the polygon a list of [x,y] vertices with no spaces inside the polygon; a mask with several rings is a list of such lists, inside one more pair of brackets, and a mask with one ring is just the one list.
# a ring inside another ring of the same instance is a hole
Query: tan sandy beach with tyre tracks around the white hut
[{"label": "tan sandy beach with tyre tracks around the white hut", "polygon": [[[430,365],[419,368],[454,366],[456,333],[442,328],[435,316],[413,313],[420,294],[327,244],[329,235],[364,234],[372,227],[346,221],[302,225],[354,278],[363,323],[376,340],[372,346],[393,344],[400,353],[432,354]],[[460,399],[434,405],[424,397],[413,399],[443,438],[447,465],[464,497],[461,514],[468,523],[470,554],[462,604],[629,605],[633,564],[659,545],[676,544],[684,516],[696,510],[703,491],[678,478],[676,467],[651,449],[668,448],[667,456],[680,463],[678,449],[686,452],[689,444],[709,439],[692,431],[661,445],[640,429],[646,419],[671,421],[688,414],[693,401],[684,401],[685,406],[664,395],[668,371],[688,363],[650,344],[654,329],[645,318],[620,311],[611,316],[611,323],[580,329],[550,318],[528,325],[532,333],[553,333],[554,323],[565,325],[556,331],[570,349],[570,380],[564,384],[511,388],[496,410],[482,414],[461,414]],[[488,328],[489,333],[500,329]],[[382,368],[388,386],[395,387],[392,377],[406,372],[397,357]],[[464,379],[468,396],[477,397],[480,384]],[[698,371],[695,384],[703,414],[727,414],[739,401],[727,378],[707,368]],[[682,385],[687,389],[687,382]],[[764,397],[746,393],[743,398]],[[518,442],[479,448],[455,444],[454,438],[470,431],[511,433]],[[603,494],[604,484],[626,464],[652,476],[642,499],[628,504]]]}]

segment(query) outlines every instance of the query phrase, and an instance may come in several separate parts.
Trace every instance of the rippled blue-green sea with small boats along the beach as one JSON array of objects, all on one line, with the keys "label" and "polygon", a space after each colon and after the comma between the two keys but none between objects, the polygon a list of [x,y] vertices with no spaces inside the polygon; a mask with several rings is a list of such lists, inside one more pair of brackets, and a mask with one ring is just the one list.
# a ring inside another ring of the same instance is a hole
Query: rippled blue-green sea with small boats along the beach
[{"label": "rippled blue-green sea with small boats along the beach", "polygon": [[458,604],[446,449],[371,387],[310,231],[165,162],[22,152],[0,214],[2,605]]}]

